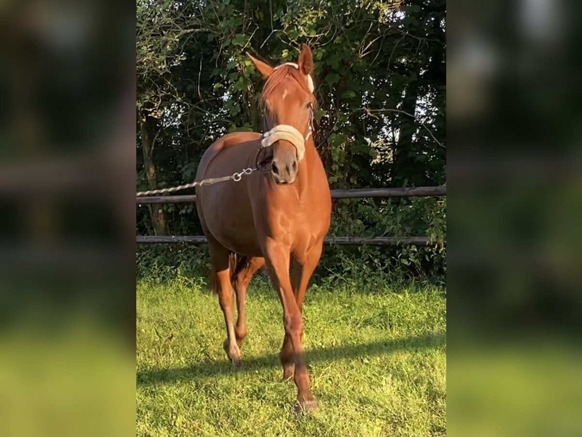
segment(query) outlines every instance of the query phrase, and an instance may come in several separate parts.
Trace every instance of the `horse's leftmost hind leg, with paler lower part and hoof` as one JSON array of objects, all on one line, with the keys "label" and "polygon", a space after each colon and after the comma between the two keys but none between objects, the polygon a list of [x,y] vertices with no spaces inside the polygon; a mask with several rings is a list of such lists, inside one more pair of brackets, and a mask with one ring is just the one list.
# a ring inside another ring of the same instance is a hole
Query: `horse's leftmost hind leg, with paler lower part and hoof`
[{"label": "horse's leftmost hind leg, with paler lower part and hoof", "polygon": [[218,301],[224,314],[224,321],[226,324],[226,340],[223,343],[223,348],[226,355],[236,365],[240,365],[240,349],[236,343],[235,323],[233,315],[234,296],[232,285],[230,283],[230,269],[228,249],[208,238],[210,246],[210,258],[212,262],[212,270],[214,270],[214,290],[218,294]]}]

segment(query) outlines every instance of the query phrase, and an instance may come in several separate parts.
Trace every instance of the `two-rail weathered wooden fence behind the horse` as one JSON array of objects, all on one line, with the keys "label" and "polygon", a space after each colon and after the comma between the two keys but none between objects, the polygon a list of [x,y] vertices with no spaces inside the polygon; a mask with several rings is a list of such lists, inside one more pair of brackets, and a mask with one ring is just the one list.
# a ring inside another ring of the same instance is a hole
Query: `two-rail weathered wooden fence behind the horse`
[{"label": "two-rail weathered wooden fence behind the horse", "polygon": [[[414,188],[359,188],[348,190],[332,190],[332,199],[359,199],[359,198],[397,198],[397,197],[428,197],[446,196],[446,186],[417,186]],[[148,196],[136,198],[137,205],[151,203],[193,203],[196,195],[182,196]],[[137,243],[190,243],[204,244],[204,235],[137,235]],[[326,244],[347,245],[416,245],[430,244],[427,237],[327,237]]]}]

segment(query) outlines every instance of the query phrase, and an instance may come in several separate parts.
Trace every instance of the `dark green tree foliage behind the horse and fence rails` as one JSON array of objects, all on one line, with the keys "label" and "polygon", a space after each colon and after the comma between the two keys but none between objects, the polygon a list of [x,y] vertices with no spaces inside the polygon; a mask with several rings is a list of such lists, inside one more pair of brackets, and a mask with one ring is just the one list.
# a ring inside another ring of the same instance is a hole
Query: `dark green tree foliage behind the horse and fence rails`
[{"label": "dark green tree foliage behind the horse and fence rails", "polygon": [[[314,54],[315,143],[332,188],[444,184],[445,17],[445,0],[137,0],[137,188],[152,186],[144,139],[164,187],[192,181],[224,133],[261,131],[263,81],[244,52],[278,65],[296,61],[301,43]],[[193,206],[163,212],[171,233],[200,232]],[[138,214],[140,233],[157,231]],[[445,205],[346,200],[334,217],[343,235],[442,241]]]}]

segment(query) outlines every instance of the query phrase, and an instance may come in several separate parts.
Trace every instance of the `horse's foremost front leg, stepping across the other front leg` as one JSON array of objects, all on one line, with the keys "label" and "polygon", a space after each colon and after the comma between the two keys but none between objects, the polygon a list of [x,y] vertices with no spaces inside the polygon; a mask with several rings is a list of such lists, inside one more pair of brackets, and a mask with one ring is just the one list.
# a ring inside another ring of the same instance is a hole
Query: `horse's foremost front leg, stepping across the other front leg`
[{"label": "horse's foremost front leg, stepping across the other front leg", "polygon": [[283,306],[283,327],[292,349],[293,380],[297,386],[299,408],[300,410],[314,410],[317,408],[317,399],[311,393],[309,373],[305,363],[305,352],[301,344],[303,318],[293,294],[289,277],[290,250],[288,247],[268,239],[265,245],[265,259],[267,260],[273,286],[278,292]]}]

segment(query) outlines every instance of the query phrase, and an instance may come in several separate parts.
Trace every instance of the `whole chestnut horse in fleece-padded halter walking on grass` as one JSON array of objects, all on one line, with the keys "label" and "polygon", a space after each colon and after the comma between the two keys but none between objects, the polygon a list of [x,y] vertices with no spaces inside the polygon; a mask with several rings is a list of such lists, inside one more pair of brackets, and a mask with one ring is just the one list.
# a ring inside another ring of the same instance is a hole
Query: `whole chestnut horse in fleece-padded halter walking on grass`
[{"label": "whole chestnut horse in fleece-padded halter walking on grass", "polygon": [[303,45],[297,64],[276,68],[247,56],[267,79],[261,96],[267,132],[235,132],[219,138],[205,151],[197,179],[255,167],[259,155],[270,170],[255,171],[239,182],[198,186],[198,217],[210,246],[213,290],[226,322],[226,354],[240,364],[247,334],[247,287],[254,273],[267,265],[283,306],[285,339],[279,354],[283,379],[293,377],[300,409],[312,410],[317,400],[301,345],[301,312],[331,219],[327,176],[311,135],[316,103],[310,76],[313,54]]}]

